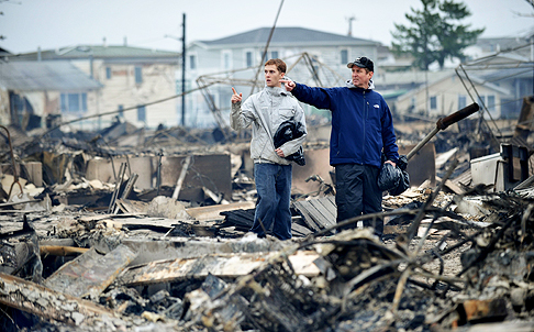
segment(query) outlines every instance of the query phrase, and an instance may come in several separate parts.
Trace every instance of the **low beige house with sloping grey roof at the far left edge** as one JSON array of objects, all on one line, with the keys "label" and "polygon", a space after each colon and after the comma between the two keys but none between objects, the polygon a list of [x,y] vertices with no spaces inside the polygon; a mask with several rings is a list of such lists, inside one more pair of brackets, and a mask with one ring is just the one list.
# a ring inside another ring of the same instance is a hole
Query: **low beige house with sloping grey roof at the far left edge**
[{"label": "low beige house with sloping grey roof at the far left edge", "polygon": [[0,124],[51,128],[65,103],[70,106],[66,119],[94,108],[100,88],[70,62],[0,62]]}]

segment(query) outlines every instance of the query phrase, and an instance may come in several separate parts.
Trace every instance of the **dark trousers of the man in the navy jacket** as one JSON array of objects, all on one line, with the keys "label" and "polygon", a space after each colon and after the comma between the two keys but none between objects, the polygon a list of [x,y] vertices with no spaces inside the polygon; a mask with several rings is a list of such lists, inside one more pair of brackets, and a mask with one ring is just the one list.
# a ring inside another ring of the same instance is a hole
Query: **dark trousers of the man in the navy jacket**
[{"label": "dark trousers of the man in the navy jacket", "polygon": [[[337,222],[382,211],[382,191],[377,185],[379,171],[379,168],[367,165],[342,164],[335,166]],[[354,223],[343,229],[354,229],[356,225]],[[382,220],[364,220],[364,226],[372,226],[378,236],[383,233]]]}]

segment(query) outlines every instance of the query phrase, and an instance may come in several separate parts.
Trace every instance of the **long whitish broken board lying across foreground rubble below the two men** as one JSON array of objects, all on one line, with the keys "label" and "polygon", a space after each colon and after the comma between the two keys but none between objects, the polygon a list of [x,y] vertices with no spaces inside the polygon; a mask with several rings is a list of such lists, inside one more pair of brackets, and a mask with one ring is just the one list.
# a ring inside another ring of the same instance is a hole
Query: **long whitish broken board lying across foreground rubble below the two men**
[{"label": "long whitish broken board lying across foreground rubble below the two men", "polygon": [[[220,278],[236,278],[252,273],[276,255],[279,255],[279,253],[219,254],[205,255],[200,258],[151,262],[146,265],[125,269],[118,278],[116,284],[126,286],[149,285],[191,277],[207,277],[209,274]],[[319,257],[320,255],[315,252],[297,252],[289,256],[289,261],[297,275],[313,277],[320,273],[313,263]]]}]

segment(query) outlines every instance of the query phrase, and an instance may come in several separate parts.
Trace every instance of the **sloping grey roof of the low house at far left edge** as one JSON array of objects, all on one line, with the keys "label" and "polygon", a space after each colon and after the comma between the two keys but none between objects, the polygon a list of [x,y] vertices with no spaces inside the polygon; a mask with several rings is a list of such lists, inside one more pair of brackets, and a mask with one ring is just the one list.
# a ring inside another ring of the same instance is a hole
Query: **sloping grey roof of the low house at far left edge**
[{"label": "sloping grey roof of the low house at far left edge", "polygon": [[0,87],[22,91],[88,91],[101,85],[69,62],[0,62]]}]

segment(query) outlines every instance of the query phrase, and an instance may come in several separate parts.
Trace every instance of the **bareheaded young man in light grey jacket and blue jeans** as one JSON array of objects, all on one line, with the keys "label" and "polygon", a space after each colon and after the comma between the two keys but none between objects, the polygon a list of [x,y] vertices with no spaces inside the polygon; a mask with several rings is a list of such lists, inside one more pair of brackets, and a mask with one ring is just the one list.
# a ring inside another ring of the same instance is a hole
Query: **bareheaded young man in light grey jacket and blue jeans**
[{"label": "bareheaded young man in light grey jacket and blue jeans", "polygon": [[291,239],[291,162],[286,159],[299,151],[305,134],[275,148],[274,136],[285,121],[300,122],[305,132],[304,111],[291,93],[282,88],[280,79],[287,66],[281,59],[265,63],[266,87],[248,97],[232,88],[230,125],[233,130],[252,125],[251,157],[258,200],[251,232],[265,237],[272,234],[280,240]]}]

